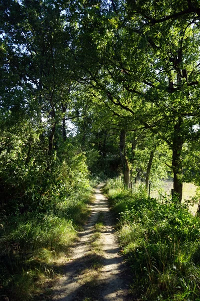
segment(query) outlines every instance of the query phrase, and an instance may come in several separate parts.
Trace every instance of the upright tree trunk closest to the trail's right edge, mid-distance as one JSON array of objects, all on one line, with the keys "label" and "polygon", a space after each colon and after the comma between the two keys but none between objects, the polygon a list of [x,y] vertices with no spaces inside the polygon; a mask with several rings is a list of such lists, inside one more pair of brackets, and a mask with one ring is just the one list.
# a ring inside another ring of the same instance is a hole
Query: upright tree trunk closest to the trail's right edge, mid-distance
[{"label": "upright tree trunk closest to the trail's right edge, mid-distance", "polygon": [[121,130],[120,139],[119,139],[119,150],[120,150],[121,163],[123,167],[123,182],[125,186],[129,187],[130,169],[129,169],[128,159],[126,157],[126,152],[125,152],[125,137],[126,137],[125,130]]}]

